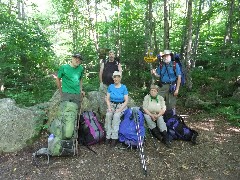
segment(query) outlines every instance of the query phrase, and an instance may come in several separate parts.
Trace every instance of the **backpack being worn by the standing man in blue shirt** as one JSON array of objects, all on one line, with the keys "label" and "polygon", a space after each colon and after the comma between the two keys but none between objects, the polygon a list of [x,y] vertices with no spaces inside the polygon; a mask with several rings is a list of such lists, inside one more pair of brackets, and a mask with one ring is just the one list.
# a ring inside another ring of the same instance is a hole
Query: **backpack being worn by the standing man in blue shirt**
[{"label": "backpack being worn by the standing man in blue shirt", "polygon": [[[172,60],[171,62],[173,63],[173,71],[175,76],[177,77],[177,73],[176,73],[176,65],[178,64],[180,71],[181,71],[181,86],[185,85],[186,83],[186,77],[185,77],[185,72],[184,72],[184,68],[182,66],[182,63],[180,61],[180,55],[179,54],[171,54]],[[159,57],[159,61],[160,61],[160,71],[162,70],[163,67],[163,62],[161,60],[161,58]]]}]

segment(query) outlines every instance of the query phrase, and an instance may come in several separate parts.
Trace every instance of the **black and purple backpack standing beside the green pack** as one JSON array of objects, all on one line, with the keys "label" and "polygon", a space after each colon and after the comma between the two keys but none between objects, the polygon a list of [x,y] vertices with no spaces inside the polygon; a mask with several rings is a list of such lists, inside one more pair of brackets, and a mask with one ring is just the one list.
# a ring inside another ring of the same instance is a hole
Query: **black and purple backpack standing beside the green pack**
[{"label": "black and purple backpack standing beside the green pack", "polygon": [[103,124],[92,111],[84,111],[79,119],[78,142],[89,146],[105,139]]}]

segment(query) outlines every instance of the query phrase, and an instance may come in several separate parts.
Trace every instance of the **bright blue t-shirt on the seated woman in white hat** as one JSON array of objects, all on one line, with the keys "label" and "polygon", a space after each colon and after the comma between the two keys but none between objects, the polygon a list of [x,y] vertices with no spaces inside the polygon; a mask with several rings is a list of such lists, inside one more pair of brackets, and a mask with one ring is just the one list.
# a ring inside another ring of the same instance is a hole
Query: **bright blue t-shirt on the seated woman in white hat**
[{"label": "bright blue t-shirt on the seated woman in white hat", "polygon": [[110,94],[110,101],[112,102],[124,102],[124,95],[128,95],[127,87],[124,84],[121,84],[119,88],[110,84],[107,92]]}]

